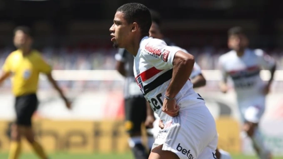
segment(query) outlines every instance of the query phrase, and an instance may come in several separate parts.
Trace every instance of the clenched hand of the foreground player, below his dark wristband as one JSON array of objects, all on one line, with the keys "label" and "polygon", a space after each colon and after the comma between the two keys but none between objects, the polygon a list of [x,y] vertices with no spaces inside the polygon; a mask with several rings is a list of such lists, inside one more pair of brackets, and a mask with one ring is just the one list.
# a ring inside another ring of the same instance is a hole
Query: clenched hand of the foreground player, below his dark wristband
[{"label": "clenched hand of the foreground player, below his dark wristband", "polygon": [[179,106],[176,105],[176,100],[168,100],[167,98],[163,101],[162,111],[169,116],[177,116],[179,114]]}]

